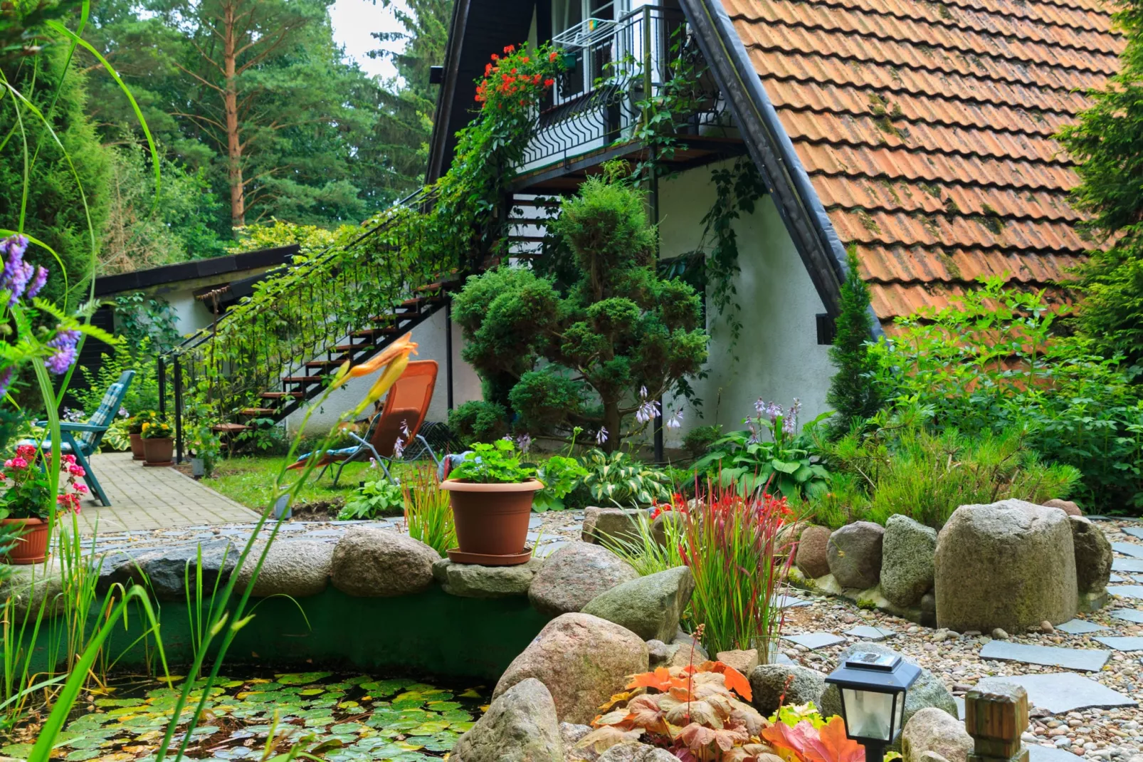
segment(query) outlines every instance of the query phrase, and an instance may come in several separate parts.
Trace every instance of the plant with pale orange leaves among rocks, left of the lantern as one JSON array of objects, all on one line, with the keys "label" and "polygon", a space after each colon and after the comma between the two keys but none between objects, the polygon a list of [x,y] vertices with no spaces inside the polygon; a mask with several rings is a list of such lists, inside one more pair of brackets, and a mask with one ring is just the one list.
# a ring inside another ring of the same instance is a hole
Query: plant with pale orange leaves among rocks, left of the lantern
[{"label": "plant with pale orange leaves among rocks, left of the lantern", "polygon": [[769,723],[750,699],[750,681],[721,661],[660,667],[601,706],[580,746],[601,753],[639,740],[685,762],[764,762],[773,754],[761,741]]}]

